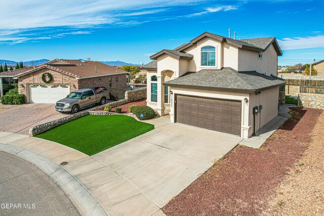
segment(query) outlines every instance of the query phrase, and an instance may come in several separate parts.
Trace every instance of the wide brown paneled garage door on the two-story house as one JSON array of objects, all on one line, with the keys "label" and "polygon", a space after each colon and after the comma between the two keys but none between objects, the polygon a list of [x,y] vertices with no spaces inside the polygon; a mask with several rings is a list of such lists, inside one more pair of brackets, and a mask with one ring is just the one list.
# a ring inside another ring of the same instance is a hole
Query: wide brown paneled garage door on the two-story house
[{"label": "wide brown paneled garage door on the two-story house", "polygon": [[240,135],[241,102],[177,95],[176,122]]}]

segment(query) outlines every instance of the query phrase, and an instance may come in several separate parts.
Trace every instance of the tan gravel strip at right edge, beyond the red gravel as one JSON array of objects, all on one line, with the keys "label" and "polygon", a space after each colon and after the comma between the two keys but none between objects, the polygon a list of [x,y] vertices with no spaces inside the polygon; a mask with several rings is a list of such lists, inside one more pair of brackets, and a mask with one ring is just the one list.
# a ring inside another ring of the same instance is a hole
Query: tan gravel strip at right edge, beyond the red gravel
[{"label": "tan gravel strip at right edge, beyond the red gravel", "polygon": [[323,125],[321,114],[307,150],[287,173],[264,215],[324,215]]}]

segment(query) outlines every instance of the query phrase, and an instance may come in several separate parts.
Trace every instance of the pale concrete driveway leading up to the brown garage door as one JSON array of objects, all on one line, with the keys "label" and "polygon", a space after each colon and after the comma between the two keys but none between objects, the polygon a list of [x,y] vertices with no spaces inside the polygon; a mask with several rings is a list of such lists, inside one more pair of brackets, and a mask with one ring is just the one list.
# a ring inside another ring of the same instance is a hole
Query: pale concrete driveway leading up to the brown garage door
[{"label": "pale concrete driveway leading up to the brown garage door", "polygon": [[110,215],[157,215],[159,208],[242,140],[170,123],[168,116],[148,122],[155,124],[154,130],[92,156],[106,167],[85,159],[83,164],[75,161],[66,167],[80,173],[93,163],[96,170],[76,178]]}]

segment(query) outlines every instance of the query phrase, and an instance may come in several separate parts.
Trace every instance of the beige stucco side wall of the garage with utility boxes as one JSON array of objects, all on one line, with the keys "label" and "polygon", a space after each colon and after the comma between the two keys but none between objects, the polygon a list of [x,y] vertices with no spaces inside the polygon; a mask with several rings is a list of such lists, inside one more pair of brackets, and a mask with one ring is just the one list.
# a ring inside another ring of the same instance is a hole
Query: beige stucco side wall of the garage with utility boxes
[{"label": "beige stucco side wall of the garage with utility boxes", "polygon": [[266,123],[278,115],[278,97],[279,87],[261,91],[259,95],[250,94],[249,125],[252,129],[249,136],[253,133],[253,107],[263,106],[261,112],[256,116],[256,131],[259,131]]}]

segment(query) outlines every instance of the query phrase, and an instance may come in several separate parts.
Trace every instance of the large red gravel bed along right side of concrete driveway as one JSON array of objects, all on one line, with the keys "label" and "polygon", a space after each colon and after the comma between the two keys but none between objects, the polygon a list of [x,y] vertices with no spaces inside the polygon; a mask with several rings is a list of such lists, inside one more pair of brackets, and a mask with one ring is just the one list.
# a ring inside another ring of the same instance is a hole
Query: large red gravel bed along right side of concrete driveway
[{"label": "large red gravel bed along right side of concrete driveway", "polygon": [[307,148],[322,113],[291,108],[287,120],[260,149],[238,146],[214,164],[163,211],[167,215],[258,215]]}]

